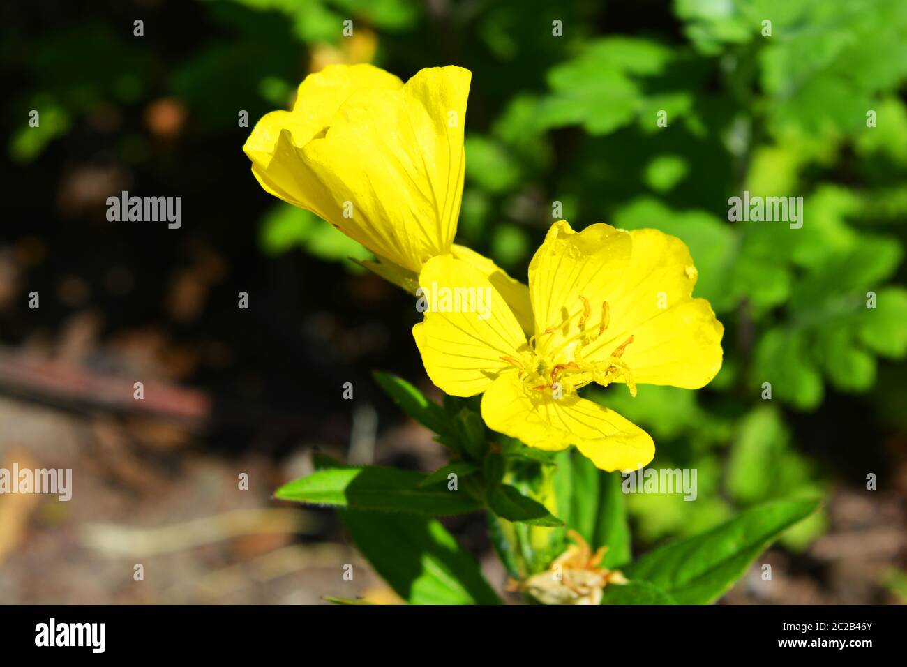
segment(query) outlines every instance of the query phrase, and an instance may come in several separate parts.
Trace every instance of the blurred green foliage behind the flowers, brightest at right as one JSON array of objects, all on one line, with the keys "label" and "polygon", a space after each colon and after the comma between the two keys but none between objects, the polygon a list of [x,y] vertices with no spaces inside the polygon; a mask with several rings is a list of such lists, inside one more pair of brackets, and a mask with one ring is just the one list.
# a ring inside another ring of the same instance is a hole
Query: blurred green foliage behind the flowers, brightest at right
[{"label": "blurred green foliage behind the flowers, brightest at right", "polygon": [[[5,62],[27,82],[11,94],[5,120],[24,128],[27,111],[40,107],[45,129],[14,132],[10,155],[34,161],[105,104],[168,95],[188,108],[191,141],[231,142],[241,160],[248,131],[237,130],[237,111],[254,123],[286,106],[326,47],[332,58],[353,57],[342,36],[352,19],[374,35],[373,62],[404,79],[440,64],[473,71],[459,242],[521,280],[558,208],[577,229],[657,227],[688,244],[696,295],[726,327],[721,373],[697,393],[590,391],[655,436],[653,466],[698,470],[695,503],[629,496],[642,539],[690,535],[736,509],[824,489],[831,475],[815,456],[821,436],[802,417],[830,409],[830,394],[846,397],[866,438],[907,427],[904,366],[892,361],[907,352],[903,0],[205,0],[190,8],[209,29],[172,53],[143,48],[125,18],[85,18],[27,48],[5,34]],[[552,33],[555,20],[562,36]],[[803,228],[727,221],[728,198],[743,191],[804,197]],[[367,256],[313,216],[267,206],[263,250]],[[854,474],[859,481],[863,471]],[[785,540],[803,546],[823,525],[814,515]]]}]

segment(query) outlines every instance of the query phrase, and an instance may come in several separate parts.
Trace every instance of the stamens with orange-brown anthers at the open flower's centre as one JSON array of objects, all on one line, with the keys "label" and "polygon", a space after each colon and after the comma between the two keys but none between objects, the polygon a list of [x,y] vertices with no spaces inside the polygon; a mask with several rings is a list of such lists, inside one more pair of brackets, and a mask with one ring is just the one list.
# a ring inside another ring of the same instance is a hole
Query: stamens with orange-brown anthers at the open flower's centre
[{"label": "stamens with orange-brown anthers at the open flower's centre", "polygon": [[[607,387],[611,382],[622,380],[627,383],[631,396],[636,396],[633,376],[621,357],[627,346],[633,342],[629,336],[601,361],[583,358],[582,348],[599,338],[610,325],[608,301],[602,301],[598,322],[592,319],[589,299],[580,295],[582,308],[572,315],[566,307],[561,309],[563,319],[556,327],[536,333],[529,339],[528,348],[519,358],[502,357],[517,369],[523,388],[541,396],[561,398],[575,393],[580,387],[596,382]],[[574,325],[574,320],[577,320]],[[536,351],[536,339],[561,333],[561,340],[555,345],[545,345],[541,353]]]}]

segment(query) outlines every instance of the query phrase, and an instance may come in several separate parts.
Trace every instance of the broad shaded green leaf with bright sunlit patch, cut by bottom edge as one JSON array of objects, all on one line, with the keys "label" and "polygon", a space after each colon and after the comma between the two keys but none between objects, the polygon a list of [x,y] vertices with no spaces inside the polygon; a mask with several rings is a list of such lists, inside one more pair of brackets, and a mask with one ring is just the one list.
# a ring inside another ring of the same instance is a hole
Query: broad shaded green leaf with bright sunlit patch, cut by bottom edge
[{"label": "broad shaded green leaf with bright sunlit patch, cut by bottom edge", "polygon": [[473,556],[434,519],[344,510],[359,551],[412,604],[500,604]]}]

